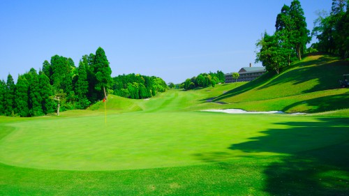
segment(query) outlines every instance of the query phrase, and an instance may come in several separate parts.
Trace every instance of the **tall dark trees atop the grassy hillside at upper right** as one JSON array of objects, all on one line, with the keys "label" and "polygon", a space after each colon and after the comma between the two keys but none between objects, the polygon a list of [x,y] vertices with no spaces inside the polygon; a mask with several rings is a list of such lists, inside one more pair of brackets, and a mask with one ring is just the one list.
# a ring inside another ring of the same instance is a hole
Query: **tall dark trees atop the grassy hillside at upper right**
[{"label": "tall dark trees atop the grassy hillside at upper right", "polygon": [[293,0],[290,6],[284,5],[276,16],[274,34],[265,32],[257,41],[255,62],[261,62],[268,71],[274,70],[279,74],[293,61],[302,60],[306,52],[332,52],[346,58],[349,51],[347,5],[348,0],[333,0],[332,13],[327,17],[321,15],[315,20],[311,35],[318,38],[318,43],[309,49],[306,44],[310,43],[311,36],[300,2]]}]

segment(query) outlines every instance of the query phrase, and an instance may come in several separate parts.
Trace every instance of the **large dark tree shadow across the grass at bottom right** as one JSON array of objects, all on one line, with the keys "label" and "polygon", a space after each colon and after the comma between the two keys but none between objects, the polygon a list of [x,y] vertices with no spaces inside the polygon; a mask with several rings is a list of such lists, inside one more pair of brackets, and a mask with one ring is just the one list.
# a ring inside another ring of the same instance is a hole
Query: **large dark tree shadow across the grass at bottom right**
[{"label": "large dark tree shadow across the grass at bottom right", "polygon": [[265,136],[229,149],[286,154],[265,167],[265,191],[271,195],[348,195],[348,118],[318,120],[276,123],[288,128],[265,130]]}]

